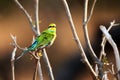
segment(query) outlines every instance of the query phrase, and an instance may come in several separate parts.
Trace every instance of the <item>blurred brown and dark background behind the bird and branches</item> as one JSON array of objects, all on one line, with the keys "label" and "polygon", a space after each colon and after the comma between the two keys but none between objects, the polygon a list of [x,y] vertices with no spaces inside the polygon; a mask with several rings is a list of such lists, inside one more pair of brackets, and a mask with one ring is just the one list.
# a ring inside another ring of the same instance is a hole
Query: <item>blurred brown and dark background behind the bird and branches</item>
[{"label": "blurred brown and dark background behind the bird and branches", "polygon": [[[24,8],[34,19],[34,0],[19,0]],[[75,23],[79,38],[89,59],[86,49],[84,34],[82,30],[84,0],[67,0],[73,21]],[[61,0],[40,0],[39,19],[40,31],[47,28],[50,23],[57,25],[57,39],[54,45],[47,48],[47,54],[54,72],[55,80],[92,80],[87,67],[81,62],[79,49],[73,39],[65,9]],[[93,0],[89,3],[89,9]],[[120,23],[120,0],[98,0],[93,16],[88,24],[90,40],[96,54],[99,56],[102,33],[100,25],[109,26],[114,19]],[[29,22],[23,12],[14,3],[14,0],[0,0],[0,80],[11,80],[10,58],[13,46],[10,33],[17,37],[21,47],[28,47],[34,36]],[[110,33],[120,46],[120,26],[114,27]],[[114,62],[112,48],[106,46],[109,61]],[[21,51],[17,50],[17,55]],[[49,80],[46,65],[41,58],[44,80]],[[31,60],[29,54],[15,63],[16,80],[32,80],[35,61]],[[111,79],[112,80],[112,79]]]}]

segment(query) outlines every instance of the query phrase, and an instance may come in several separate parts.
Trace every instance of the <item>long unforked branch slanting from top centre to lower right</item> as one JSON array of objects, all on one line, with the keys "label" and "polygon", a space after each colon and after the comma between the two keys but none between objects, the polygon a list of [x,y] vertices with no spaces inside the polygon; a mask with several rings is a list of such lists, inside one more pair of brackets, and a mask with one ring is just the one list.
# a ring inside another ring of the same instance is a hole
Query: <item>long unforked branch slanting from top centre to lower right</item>
[{"label": "long unforked branch slanting from top centre to lower right", "polygon": [[75,29],[75,26],[74,26],[74,23],[73,23],[73,20],[72,20],[72,16],[71,16],[68,4],[67,4],[66,0],[62,0],[62,1],[63,1],[63,4],[64,4],[64,7],[65,7],[65,11],[66,11],[66,14],[67,14],[67,18],[68,18],[68,21],[69,21],[69,24],[70,24],[74,39],[75,39],[75,41],[77,43],[78,48],[81,51],[81,56],[82,56],[83,60],[85,61],[86,65],[90,68],[93,75],[97,78],[98,75],[95,73],[92,66],[90,65],[90,63],[89,63],[89,61],[88,61],[88,59],[87,59],[87,57],[85,55],[85,52],[83,50],[83,47],[81,45],[81,42],[80,42],[80,40],[78,38],[78,35],[76,33],[76,29]]}]

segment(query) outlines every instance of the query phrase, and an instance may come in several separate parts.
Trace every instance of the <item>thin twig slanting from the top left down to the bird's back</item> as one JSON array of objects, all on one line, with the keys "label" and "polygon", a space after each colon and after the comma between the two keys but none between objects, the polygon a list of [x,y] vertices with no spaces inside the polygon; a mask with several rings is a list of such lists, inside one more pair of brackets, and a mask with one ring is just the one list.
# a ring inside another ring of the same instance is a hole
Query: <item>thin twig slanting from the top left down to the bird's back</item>
[{"label": "thin twig slanting from the top left down to the bird's back", "polygon": [[24,12],[24,14],[26,15],[28,21],[29,21],[29,24],[30,24],[30,27],[32,28],[32,31],[38,35],[37,31],[35,30],[35,26],[32,24],[32,18],[31,16],[29,15],[29,13],[26,11],[26,9],[24,9],[24,7],[20,4],[20,2],[18,0],[14,0],[15,3],[18,5],[18,7]]}]

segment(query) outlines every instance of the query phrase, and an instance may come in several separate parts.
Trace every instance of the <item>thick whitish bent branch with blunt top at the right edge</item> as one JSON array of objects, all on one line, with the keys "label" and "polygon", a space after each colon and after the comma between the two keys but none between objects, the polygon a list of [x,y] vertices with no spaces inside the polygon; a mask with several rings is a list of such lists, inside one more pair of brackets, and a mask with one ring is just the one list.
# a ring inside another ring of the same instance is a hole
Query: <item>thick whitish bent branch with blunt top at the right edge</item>
[{"label": "thick whitish bent branch with blunt top at the right edge", "polygon": [[[100,29],[103,32],[104,36],[106,37],[107,41],[113,47],[115,60],[116,60],[116,69],[117,69],[117,72],[119,72],[120,71],[120,56],[119,56],[119,51],[118,51],[117,45],[114,42],[114,40],[112,39],[111,35],[108,33],[108,31],[105,28],[105,26],[101,25]],[[118,78],[118,80],[120,80],[120,74],[119,73],[117,74],[117,78]]]}]

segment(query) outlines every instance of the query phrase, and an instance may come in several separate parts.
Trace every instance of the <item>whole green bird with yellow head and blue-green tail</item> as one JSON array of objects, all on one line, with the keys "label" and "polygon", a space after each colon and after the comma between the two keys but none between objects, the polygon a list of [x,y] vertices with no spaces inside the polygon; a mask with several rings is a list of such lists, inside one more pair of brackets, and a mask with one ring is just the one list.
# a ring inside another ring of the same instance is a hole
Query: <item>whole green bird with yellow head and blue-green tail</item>
[{"label": "whole green bird with yellow head and blue-green tail", "polygon": [[56,24],[51,23],[48,29],[41,32],[39,36],[35,38],[35,41],[30,45],[22,54],[17,57],[16,60],[20,59],[23,55],[27,54],[29,51],[35,51],[37,49],[43,49],[47,46],[51,46],[56,39]]}]

